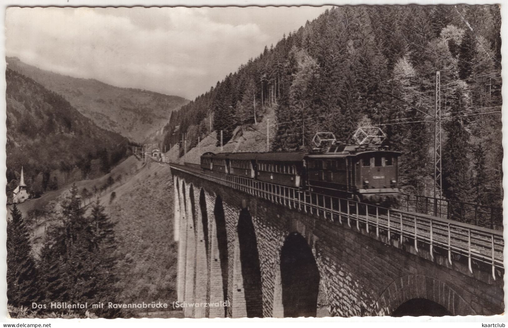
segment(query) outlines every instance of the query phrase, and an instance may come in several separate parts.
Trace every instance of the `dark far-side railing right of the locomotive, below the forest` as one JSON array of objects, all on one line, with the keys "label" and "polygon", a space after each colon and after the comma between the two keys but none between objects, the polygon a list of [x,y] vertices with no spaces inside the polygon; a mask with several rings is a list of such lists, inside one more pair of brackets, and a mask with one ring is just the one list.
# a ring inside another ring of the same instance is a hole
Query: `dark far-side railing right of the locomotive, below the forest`
[{"label": "dark far-side railing right of the locomotive, below the forest", "polygon": [[503,210],[499,207],[402,194],[400,208],[421,214],[446,217],[449,220],[478,227],[503,230]]}]

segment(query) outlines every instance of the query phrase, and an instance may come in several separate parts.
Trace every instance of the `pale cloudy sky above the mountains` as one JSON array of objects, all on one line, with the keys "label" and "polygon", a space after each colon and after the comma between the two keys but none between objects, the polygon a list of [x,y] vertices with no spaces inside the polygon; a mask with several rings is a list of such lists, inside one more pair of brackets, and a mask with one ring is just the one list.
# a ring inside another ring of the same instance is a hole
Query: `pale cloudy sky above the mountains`
[{"label": "pale cloudy sky above the mountains", "polygon": [[9,8],[6,54],[60,74],[194,99],[324,11]]}]

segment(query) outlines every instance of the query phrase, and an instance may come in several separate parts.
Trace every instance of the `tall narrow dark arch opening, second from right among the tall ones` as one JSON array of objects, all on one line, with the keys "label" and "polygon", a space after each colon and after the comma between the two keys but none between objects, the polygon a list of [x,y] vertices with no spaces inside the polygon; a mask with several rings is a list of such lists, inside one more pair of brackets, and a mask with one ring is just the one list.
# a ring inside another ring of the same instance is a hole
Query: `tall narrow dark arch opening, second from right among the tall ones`
[{"label": "tall narrow dark arch opening, second from right among the tall ones", "polygon": [[258,241],[252,217],[246,208],[240,211],[237,233],[246,316],[261,318],[263,317],[263,296]]}]

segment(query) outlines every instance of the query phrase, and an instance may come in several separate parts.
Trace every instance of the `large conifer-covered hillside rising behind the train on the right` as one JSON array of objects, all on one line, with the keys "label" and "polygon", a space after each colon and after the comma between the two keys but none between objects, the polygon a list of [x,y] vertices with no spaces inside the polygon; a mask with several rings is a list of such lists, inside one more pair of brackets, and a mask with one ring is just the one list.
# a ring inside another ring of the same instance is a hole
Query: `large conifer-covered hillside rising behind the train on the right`
[{"label": "large conifer-covered hillside rising behind the train on the right", "polygon": [[173,112],[165,143],[195,147],[210,117],[227,142],[275,111],[271,148],[309,149],[315,132],[347,141],[362,120],[403,153],[403,190],[429,194],[434,122],[415,107],[433,116],[436,69],[458,69],[441,73],[443,195],[500,206],[500,23],[498,6],[326,10]]}]

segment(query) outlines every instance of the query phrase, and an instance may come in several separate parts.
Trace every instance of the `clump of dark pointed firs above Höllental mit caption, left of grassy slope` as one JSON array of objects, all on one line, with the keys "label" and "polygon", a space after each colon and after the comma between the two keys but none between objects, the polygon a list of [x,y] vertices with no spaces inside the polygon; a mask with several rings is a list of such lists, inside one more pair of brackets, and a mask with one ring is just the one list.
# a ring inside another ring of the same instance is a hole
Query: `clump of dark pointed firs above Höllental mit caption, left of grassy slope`
[{"label": "clump of dark pointed firs above H\u00f6llental mit caption, left of grassy slope", "polygon": [[[48,235],[41,266],[47,301],[96,304],[113,301],[116,296],[113,256],[113,224],[104,207],[94,204],[90,216],[84,215],[78,189],[73,185],[62,202],[62,225]],[[118,311],[97,309],[96,314],[115,317]]]}]

